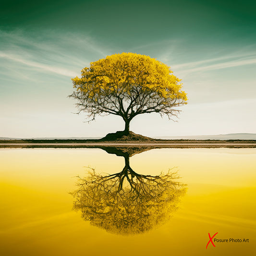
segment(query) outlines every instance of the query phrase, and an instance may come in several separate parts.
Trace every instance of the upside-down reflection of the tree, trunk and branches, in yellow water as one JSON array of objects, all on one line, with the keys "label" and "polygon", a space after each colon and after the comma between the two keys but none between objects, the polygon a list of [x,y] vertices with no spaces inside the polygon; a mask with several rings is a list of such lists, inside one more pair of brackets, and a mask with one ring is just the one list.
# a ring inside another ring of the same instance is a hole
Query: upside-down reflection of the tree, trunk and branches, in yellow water
[{"label": "upside-down reflection of the tree, trunk and branches, in yellow water", "polygon": [[129,157],[141,149],[108,151],[124,157],[123,170],[98,174],[90,169],[85,178],[79,177],[78,189],[72,193],[74,210],[81,211],[91,225],[122,235],[147,232],[170,219],[186,192],[186,186],[176,181],[177,173],[138,174],[130,167]]}]

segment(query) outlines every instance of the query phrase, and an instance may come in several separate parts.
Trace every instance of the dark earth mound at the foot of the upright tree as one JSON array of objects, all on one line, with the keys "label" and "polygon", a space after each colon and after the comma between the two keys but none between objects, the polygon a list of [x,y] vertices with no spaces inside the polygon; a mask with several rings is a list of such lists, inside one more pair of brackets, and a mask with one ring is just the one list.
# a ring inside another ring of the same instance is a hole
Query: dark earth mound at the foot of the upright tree
[{"label": "dark earth mound at the foot of the upright tree", "polygon": [[117,131],[116,133],[107,134],[104,138],[99,139],[99,141],[156,141],[157,139],[152,139],[140,134],[134,134],[129,132],[124,134],[123,131]]}]

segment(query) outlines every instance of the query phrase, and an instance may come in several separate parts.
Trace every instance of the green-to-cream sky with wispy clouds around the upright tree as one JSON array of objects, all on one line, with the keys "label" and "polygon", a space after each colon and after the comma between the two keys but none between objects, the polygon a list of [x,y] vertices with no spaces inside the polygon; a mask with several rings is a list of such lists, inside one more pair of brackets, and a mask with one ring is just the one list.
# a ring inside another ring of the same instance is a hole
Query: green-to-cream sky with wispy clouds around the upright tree
[{"label": "green-to-cream sky with wispy clouds around the upright tree", "polygon": [[100,137],[121,117],[74,114],[71,78],[90,62],[145,54],[182,79],[177,122],[138,115],[146,136],[256,133],[256,1],[2,1],[0,137]]}]

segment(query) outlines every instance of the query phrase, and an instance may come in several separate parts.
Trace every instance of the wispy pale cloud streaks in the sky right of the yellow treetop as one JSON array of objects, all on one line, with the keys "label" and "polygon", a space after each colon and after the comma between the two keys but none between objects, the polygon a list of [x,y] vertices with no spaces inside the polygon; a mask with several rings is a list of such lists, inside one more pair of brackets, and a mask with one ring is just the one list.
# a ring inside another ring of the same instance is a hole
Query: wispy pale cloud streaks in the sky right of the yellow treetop
[{"label": "wispy pale cloud streaks in the sky right of the yellow treetop", "polygon": [[[244,45],[243,48],[212,47],[205,52],[197,47],[187,49],[185,40],[165,40],[154,42],[153,45],[142,45],[141,49],[151,47],[157,59],[171,66],[171,69],[184,73],[204,72],[226,69],[256,63],[256,44]],[[194,50],[193,50],[194,49]],[[195,61],[188,61],[188,60]]]}]

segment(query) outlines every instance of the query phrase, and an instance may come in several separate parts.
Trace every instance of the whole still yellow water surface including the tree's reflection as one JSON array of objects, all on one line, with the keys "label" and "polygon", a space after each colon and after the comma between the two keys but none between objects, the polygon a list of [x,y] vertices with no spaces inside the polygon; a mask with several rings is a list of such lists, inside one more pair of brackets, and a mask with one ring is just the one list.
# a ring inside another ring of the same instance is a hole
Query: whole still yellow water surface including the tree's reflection
[{"label": "whole still yellow water surface including the tree's reflection", "polygon": [[256,254],[256,148],[110,151],[0,149],[0,255]]}]

